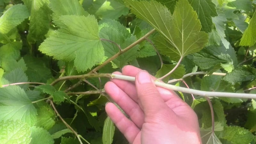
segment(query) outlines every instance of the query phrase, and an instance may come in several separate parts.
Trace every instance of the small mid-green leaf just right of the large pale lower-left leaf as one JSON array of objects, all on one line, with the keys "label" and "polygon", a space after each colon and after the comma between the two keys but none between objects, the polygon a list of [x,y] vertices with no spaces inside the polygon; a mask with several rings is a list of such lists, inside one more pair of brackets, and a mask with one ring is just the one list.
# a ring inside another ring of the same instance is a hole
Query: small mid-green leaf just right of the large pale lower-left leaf
[{"label": "small mid-green leaf just right of the large pale lower-left leaf", "polygon": [[36,126],[49,130],[55,124],[55,112],[47,103],[37,103]]}]

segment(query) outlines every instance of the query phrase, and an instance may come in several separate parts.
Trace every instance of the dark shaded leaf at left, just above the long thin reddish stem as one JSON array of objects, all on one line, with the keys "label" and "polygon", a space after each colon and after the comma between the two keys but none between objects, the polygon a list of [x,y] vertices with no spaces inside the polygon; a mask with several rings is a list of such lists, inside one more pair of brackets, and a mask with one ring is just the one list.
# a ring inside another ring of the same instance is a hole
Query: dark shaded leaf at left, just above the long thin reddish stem
[{"label": "dark shaded leaf at left, just above the long thin reddish stem", "polygon": [[46,83],[52,77],[51,70],[46,67],[43,59],[29,55],[24,56],[23,59],[28,67],[26,74],[31,82]]}]

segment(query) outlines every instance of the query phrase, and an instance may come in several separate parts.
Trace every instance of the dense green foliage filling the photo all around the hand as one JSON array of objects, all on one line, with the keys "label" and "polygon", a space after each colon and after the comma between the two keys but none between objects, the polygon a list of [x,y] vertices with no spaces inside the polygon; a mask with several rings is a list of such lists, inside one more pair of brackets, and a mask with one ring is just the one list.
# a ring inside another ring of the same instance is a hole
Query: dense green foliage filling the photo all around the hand
[{"label": "dense green foliage filling the photo all around the hand", "polygon": [[[127,143],[103,91],[103,73],[127,64],[156,77],[176,68],[163,79],[173,85],[241,93],[211,97],[211,111],[204,97],[177,92],[204,143],[255,143],[256,102],[244,98],[256,93],[255,8],[252,0],[0,0],[0,143]],[[175,80],[201,71],[186,85]]]}]

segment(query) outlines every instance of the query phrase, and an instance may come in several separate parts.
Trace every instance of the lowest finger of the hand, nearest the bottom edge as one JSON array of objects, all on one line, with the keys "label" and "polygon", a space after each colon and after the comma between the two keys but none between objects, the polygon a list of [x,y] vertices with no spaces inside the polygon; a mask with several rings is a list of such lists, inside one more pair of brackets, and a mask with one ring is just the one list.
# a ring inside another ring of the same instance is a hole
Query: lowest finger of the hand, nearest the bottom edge
[{"label": "lowest finger of the hand, nearest the bottom edge", "polygon": [[113,103],[107,103],[105,109],[116,127],[124,134],[129,143],[132,143],[140,132],[140,129],[131,120],[124,116],[124,114]]}]

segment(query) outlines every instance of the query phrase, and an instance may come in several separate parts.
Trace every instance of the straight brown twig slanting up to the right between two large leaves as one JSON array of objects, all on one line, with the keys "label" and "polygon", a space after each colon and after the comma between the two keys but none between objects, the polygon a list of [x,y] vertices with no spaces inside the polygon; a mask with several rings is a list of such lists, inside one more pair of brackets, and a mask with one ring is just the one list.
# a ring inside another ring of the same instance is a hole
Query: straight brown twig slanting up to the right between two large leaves
[{"label": "straight brown twig slanting up to the right between two large leaves", "polygon": [[[132,43],[131,45],[127,46],[125,49],[123,49],[122,51],[119,51],[118,53],[116,53],[115,55],[113,55],[112,57],[108,58],[106,61],[104,61],[101,65],[97,66],[96,68],[92,69],[88,74],[91,74],[93,72],[98,71],[100,68],[104,67],[105,65],[107,65],[110,61],[116,59],[119,55],[123,54],[124,52],[130,50],[132,47],[134,47],[135,45],[139,44],[140,42],[142,42],[143,40],[145,40],[145,38],[147,38],[148,36],[150,36],[151,34],[153,34],[156,31],[156,29],[152,29],[151,31],[149,31],[146,35],[142,36],[140,39],[138,39],[137,41],[135,41],[134,43]],[[78,85],[80,85],[83,81],[80,80],[78,81],[76,84],[72,85],[71,87],[69,87],[68,89],[65,90],[65,92],[70,91],[71,89],[77,87]]]}]

